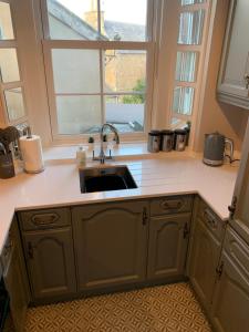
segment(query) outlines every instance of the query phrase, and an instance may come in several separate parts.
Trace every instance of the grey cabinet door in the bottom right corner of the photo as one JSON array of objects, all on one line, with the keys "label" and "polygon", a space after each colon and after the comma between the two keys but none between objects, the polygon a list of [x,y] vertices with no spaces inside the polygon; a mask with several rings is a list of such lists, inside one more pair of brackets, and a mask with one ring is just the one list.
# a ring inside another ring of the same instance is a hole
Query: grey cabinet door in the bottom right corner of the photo
[{"label": "grey cabinet door in the bottom right corner of the photo", "polygon": [[248,331],[249,278],[226,252],[221,263],[211,310],[214,325],[218,332]]}]

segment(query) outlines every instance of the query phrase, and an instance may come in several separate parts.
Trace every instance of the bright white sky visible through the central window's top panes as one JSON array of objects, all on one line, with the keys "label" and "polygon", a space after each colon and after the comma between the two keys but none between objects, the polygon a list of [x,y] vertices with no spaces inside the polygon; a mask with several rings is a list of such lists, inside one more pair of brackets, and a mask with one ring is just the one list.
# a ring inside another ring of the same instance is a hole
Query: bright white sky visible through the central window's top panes
[{"label": "bright white sky visible through the central window's top panes", "polygon": [[[91,0],[58,0],[58,2],[80,17],[91,6]],[[145,24],[146,2],[146,0],[101,0],[106,20],[135,24]]]}]

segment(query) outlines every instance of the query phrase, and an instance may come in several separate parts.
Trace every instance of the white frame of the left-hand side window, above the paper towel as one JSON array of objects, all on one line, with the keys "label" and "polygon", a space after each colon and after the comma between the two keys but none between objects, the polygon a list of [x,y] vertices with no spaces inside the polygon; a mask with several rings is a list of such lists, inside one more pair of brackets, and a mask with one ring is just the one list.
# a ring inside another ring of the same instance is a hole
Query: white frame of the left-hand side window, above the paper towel
[{"label": "white frame of the left-hand side window, above the paper towel", "polygon": [[[13,37],[14,39],[11,40],[0,40],[0,49],[14,49],[17,52],[17,60],[18,60],[18,68],[19,68],[19,75],[20,75],[20,81],[14,81],[14,82],[2,82],[0,80],[0,107],[2,108],[2,118],[0,116],[0,124],[2,122],[2,125],[19,125],[22,123],[28,122],[28,110],[27,110],[27,101],[25,101],[25,85],[23,82],[23,75],[22,75],[22,69],[20,65],[20,55],[19,55],[19,43],[18,43],[18,38],[17,38],[17,29],[14,24],[14,11],[13,11],[13,1],[12,0],[1,0],[1,2],[9,3],[10,6],[10,13],[12,18],[12,28],[13,28]],[[15,118],[15,120],[10,120],[9,113],[8,113],[8,107],[6,103],[6,96],[4,96],[4,91],[11,90],[11,89],[18,89],[20,87],[22,91],[22,97],[23,97],[23,107],[24,107],[24,116]]]}]

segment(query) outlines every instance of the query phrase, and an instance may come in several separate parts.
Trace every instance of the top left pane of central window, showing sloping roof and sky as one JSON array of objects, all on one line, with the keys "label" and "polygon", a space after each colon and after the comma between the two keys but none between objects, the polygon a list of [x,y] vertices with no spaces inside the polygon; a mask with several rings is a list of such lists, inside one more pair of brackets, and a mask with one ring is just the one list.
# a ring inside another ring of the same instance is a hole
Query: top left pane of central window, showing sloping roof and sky
[{"label": "top left pane of central window, showing sloping roof and sky", "polygon": [[51,39],[98,40],[97,0],[46,0]]}]

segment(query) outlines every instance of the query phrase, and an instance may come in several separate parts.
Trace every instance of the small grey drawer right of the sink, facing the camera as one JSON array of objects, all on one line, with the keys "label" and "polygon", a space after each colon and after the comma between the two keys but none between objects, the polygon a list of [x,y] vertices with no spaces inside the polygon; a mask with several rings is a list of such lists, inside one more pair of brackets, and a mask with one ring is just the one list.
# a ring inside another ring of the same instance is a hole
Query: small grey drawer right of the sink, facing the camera
[{"label": "small grey drawer right of the sink, facing the camera", "polygon": [[160,216],[167,214],[191,211],[193,196],[169,196],[156,198],[151,201],[151,215]]}]

